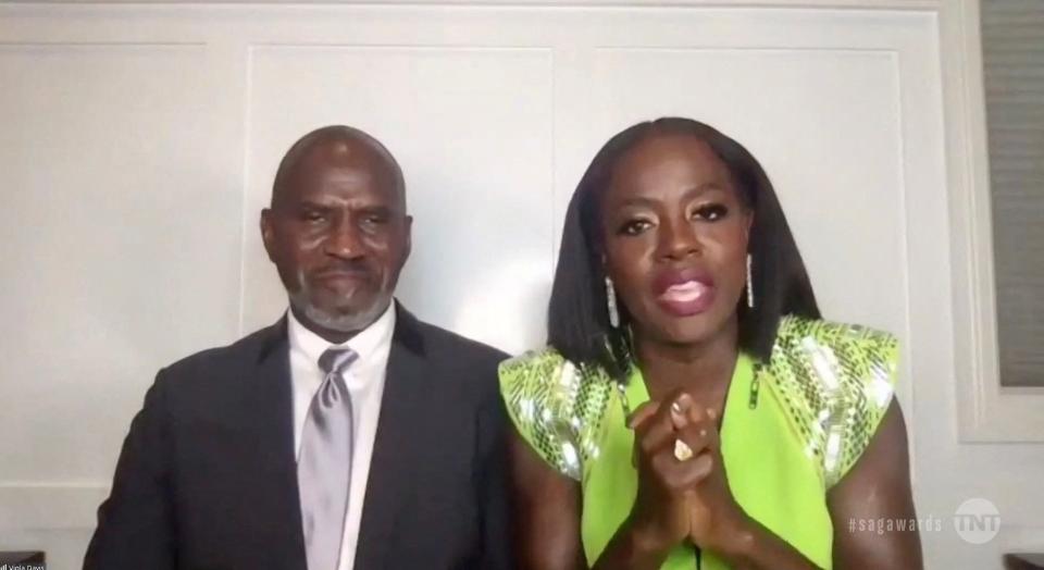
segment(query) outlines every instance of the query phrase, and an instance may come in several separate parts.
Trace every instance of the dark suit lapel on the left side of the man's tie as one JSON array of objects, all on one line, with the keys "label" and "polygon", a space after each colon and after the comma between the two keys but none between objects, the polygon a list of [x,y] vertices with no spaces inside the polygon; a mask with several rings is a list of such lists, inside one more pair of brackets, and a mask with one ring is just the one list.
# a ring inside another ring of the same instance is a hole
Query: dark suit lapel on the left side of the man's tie
[{"label": "dark suit lapel on the left side of the man's tie", "polygon": [[247,476],[256,482],[257,511],[249,513],[274,534],[265,558],[278,568],[304,570],[304,537],[297,488],[297,459],[294,447],[294,396],[290,386],[289,343],[286,318],[269,329],[247,382],[256,441],[264,442],[257,472]]}]

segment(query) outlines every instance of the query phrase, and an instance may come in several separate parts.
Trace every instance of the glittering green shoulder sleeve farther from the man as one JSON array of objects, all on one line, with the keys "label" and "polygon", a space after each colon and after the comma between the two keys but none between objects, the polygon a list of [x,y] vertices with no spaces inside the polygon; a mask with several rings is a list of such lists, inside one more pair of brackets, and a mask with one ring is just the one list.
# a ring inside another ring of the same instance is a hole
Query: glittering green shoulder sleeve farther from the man
[{"label": "glittering green shoulder sleeve farther from the man", "polygon": [[890,333],[797,317],[781,321],[765,372],[828,488],[877,433],[897,362],[898,343]]}]

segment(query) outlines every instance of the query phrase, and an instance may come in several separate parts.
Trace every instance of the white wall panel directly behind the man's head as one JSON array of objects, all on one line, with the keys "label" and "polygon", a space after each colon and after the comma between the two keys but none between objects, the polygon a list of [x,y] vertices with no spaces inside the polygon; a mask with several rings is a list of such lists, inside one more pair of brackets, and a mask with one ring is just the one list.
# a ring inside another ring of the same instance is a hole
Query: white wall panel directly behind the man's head
[{"label": "white wall panel directly behind the man's head", "polygon": [[244,320],[285,293],[257,212],[299,136],[345,123],[397,157],[414,216],[399,297],[420,317],[514,352],[543,339],[551,265],[552,58],[547,49],[250,50]]}]

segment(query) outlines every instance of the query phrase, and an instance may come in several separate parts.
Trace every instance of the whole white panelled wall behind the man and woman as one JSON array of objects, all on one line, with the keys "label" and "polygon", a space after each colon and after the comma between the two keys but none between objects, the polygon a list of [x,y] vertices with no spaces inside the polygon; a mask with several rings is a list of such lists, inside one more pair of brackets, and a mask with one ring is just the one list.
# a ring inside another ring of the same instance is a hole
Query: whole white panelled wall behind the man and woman
[{"label": "whole white panelled wall behind the man and woman", "polygon": [[[417,218],[401,298],[520,351],[583,169],[664,114],[761,159],[829,317],[902,337],[918,508],[947,524],[929,567],[1044,549],[1042,447],[958,442],[934,4],[586,3],[0,5],[0,549],[76,567],[156,370],[278,317],[257,216],[304,132],[388,145]],[[985,546],[949,526],[974,496],[1005,524]]]}]

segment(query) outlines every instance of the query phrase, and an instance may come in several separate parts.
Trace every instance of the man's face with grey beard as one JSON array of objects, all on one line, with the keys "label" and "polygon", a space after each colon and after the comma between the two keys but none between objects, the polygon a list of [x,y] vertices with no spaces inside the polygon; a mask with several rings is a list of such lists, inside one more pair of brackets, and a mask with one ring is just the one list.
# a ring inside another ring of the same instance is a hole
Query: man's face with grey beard
[{"label": "man's face with grey beard", "polygon": [[261,213],[264,247],[309,329],[357,332],[388,307],[410,253],[400,184],[365,142],[323,141],[275,190]]}]

